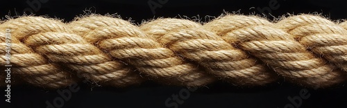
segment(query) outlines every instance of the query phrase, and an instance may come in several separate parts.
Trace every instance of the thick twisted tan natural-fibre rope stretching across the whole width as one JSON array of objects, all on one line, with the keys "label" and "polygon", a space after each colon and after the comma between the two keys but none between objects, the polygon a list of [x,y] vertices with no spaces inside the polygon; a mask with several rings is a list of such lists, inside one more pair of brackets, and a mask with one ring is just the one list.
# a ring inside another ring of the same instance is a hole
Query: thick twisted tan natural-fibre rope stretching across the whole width
[{"label": "thick twisted tan natural-fibre rope stretching across the whole width", "polygon": [[[77,75],[115,87],[144,80],[196,87],[217,79],[257,86],[278,78],[330,87],[347,79],[347,22],[316,15],[278,22],[226,15],[203,25],[166,18],[141,26],[101,15],[69,24],[19,17],[0,25],[1,49],[6,28],[16,83],[52,89],[81,81]],[[4,70],[6,52],[0,54]]]}]

